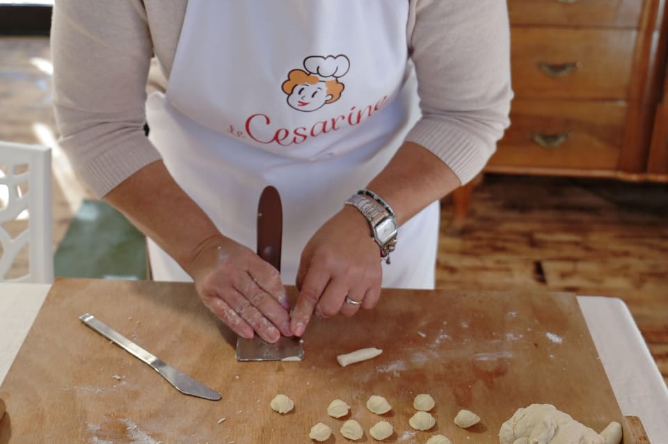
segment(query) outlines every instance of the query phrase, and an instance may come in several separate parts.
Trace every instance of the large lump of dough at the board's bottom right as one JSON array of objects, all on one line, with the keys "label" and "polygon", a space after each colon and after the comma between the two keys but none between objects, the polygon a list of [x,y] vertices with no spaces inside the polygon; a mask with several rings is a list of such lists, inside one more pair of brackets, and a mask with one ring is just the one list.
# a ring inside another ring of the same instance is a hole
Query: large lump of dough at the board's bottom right
[{"label": "large lump of dough at the board's bottom right", "polygon": [[516,442],[605,444],[605,439],[552,404],[531,404],[501,425],[499,443]]}]

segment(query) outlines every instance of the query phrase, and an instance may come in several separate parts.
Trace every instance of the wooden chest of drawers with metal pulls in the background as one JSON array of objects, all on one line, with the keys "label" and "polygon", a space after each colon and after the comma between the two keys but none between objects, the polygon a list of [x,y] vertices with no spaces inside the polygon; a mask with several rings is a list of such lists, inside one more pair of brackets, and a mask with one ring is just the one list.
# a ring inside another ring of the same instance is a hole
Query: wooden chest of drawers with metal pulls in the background
[{"label": "wooden chest of drawers with metal pulls in the background", "polygon": [[486,171],[668,181],[666,0],[508,8],[515,99]]}]

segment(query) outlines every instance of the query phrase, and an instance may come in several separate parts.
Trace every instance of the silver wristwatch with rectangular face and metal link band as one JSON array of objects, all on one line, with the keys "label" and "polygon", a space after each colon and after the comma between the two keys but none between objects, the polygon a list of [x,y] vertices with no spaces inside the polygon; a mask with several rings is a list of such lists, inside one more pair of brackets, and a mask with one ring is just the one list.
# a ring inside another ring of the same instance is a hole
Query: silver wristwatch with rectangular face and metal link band
[{"label": "silver wristwatch with rectangular face and metal link band", "polygon": [[381,206],[376,200],[367,199],[365,195],[353,195],[347,205],[354,206],[366,217],[371,227],[372,237],[381,247],[381,258],[390,263],[390,252],[397,245],[397,220],[391,210]]}]

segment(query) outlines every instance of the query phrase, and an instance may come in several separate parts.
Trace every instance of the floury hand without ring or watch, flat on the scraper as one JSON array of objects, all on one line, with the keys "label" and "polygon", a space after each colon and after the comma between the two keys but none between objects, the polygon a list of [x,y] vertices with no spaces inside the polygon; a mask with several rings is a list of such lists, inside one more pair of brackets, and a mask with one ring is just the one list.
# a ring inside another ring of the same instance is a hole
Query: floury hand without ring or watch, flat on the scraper
[{"label": "floury hand without ring or watch, flat on the scraper", "polygon": [[223,236],[208,238],[186,266],[202,302],[244,338],[269,343],[292,336],[289,301],[280,272],[253,251]]}]

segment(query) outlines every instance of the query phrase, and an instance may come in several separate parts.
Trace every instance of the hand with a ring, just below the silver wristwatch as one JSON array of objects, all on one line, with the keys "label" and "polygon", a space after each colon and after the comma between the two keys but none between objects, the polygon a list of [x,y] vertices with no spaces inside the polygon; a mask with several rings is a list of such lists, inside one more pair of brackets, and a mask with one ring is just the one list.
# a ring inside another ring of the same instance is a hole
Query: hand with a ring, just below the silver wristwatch
[{"label": "hand with a ring, just below the silver wristwatch", "polygon": [[323,317],[352,316],[360,307],[372,309],[381,295],[381,280],[380,250],[369,223],[356,208],[344,206],[301,254],[292,332],[301,336],[314,312]]}]

